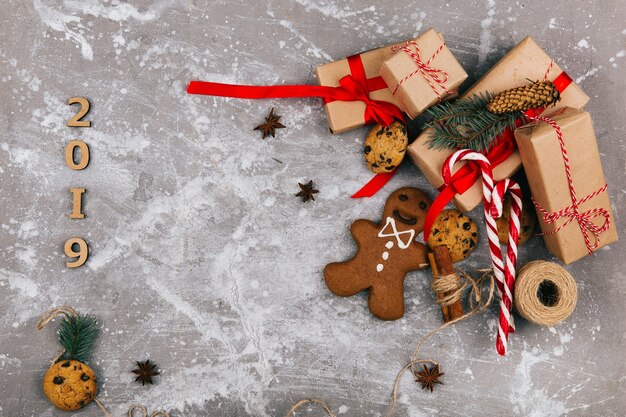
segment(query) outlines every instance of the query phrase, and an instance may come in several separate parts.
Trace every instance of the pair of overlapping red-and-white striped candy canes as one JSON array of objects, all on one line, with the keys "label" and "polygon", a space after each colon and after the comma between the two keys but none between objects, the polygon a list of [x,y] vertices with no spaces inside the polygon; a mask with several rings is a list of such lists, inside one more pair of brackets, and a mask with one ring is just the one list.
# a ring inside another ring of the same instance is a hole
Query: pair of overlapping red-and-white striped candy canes
[{"label": "pair of overlapping red-and-white striped candy canes", "polygon": [[[483,179],[483,206],[491,265],[500,293],[500,316],[498,320],[498,335],[496,350],[500,355],[506,355],[509,333],[515,331],[513,323],[513,291],[515,289],[515,266],[517,264],[517,241],[520,230],[520,213],[522,211],[522,191],[519,185],[510,179],[497,183],[493,180],[491,163],[487,157],[469,149],[461,149],[448,157],[444,162],[442,174],[447,184],[452,177],[452,168],[458,161],[474,161],[480,166]],[[506,264],[502,256],[496,219],[502,216],[503,201],[506,193],[511,194],[511,213],[509,222],[509,242],[506,252]]]}]

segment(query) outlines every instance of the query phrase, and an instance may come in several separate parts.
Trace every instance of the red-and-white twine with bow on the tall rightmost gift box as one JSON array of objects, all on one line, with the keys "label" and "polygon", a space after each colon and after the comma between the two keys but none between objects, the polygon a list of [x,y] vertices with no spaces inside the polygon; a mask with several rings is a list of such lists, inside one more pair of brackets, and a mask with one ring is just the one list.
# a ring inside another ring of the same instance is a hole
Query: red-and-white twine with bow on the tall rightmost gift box
[{"label": "red-and-white twine with bow on the tall rightmost gift box", "polygon": [[[563,140],[563,132],[561,131],[561,127],[554,120],[543,117],[529,117],[530,120],[539,121],[548,123],[554,131],[556,132],[556,137],[559,140],[559,145],[561,146],[561,155],[563,156],[563,165],[565,166],[565,174],[567,176],[567,183],[569,186],[570,196],[572,198],[572,204],[558,211],[548,212],[544,209],[539,203],[535,201],[533,198],[533,203],[535,207],[543,213],[543,221],[547,224],[554,223],[555,221],[568,217],[567,221],[557,227],[555,230],[547,233],[542,233],[542,235],[556,233],[559,230],[563,229],[565,226],[576,220],[578,222],[578,226],[580,227],[580,231],[583,234],[585,239],[585,246],[587,247],[587,251],[591,255],[594,250],[598,248],[600,245],[600,235],[607,231],[611,226],[611,215],[608,210],[602,207],[594,207],[584,212],[580,212],[580,205],[585,203],[586,201],[591,200],[599,194],[605,192],[608,188],[608,184],[604,184],[602,187],[592,192],[589,195],[586,195],[582,199],[578,199],[576,195],[576,189],[574,188],[574,181],[572,179],[572,170],[570,168],[569,156],[567,154],[567,148],[565,147],[565,142]],[[604,222],[598,226],[593,222],[593,219],[596,217],[604,217]],[[591,243],[591,238],[589,237],[589,233],[594,236],[594,243]]]}]

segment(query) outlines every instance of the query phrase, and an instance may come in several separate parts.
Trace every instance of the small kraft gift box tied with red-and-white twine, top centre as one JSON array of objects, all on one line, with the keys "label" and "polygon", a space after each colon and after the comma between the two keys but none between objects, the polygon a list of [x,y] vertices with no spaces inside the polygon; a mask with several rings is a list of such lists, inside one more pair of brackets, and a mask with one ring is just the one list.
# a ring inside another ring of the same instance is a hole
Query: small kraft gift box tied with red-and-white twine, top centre
[{"label": "small kraft gift box tied with red-and-white twine, top centre", "polygon": [[414,58],[400,49],[383,62],[380,76],[398,100],[400,109],[414,119],[427,108],[455,94],[467,73],[433,29],[415,39],[415,45],[406,47],[426,68],[420,71]]}]

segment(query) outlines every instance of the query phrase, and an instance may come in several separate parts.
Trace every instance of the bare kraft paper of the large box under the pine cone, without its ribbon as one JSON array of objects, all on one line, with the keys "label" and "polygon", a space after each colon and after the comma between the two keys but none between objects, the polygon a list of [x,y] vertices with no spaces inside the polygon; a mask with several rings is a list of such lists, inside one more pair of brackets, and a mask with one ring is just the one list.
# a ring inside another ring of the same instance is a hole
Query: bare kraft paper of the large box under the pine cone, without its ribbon
[{"label": "bare kraft paper of the large box under the pine cone, without its ribbon", "polygon": [[[484,92],[497,94],[510,88],[527,85],[528,80],[543,80],[546,74],[547,79],[553,81],[562,71],[531,37],[526,37],[487,71],[461,98]],[[564,107],[582,109],[587,101],[589,97],[572,82],[561,92],[561,100],[556,106],[547,108],[543,115],[553,114]],[[407,152],[428,181],[435,188],[439,188],[443,185],[441,166],[455,149],[430,149],[428,145],[430,134],[430,129],[423,131],[407,148]],[[520,168],[521,164],[519,152],[516,150],[506,160],[493,167],[494,179],[509,178]],[[457,194],[453,201],[461,211],[467,212],[480,204],[482,198],[482,183],[478,180],[463,194]]]}]

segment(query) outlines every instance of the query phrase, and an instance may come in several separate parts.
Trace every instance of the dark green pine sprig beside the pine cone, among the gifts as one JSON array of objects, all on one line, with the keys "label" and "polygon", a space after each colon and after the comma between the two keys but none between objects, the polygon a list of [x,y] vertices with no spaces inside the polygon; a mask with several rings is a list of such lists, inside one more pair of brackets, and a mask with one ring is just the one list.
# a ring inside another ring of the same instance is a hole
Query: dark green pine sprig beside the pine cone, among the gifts
[{"label": "dark green pine sprig beside the pine cone, among the gifts", "polygon": [[521,111],[495,114],[487,110],[492,94],[474,94],[471,98],[444,102],[431,107],[427,114],[433,119],[426,125],[432,128],[429,148],[472,149],[485,151],[507,127],[514,128],[522,117]]}]

